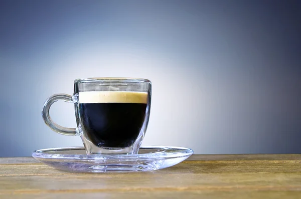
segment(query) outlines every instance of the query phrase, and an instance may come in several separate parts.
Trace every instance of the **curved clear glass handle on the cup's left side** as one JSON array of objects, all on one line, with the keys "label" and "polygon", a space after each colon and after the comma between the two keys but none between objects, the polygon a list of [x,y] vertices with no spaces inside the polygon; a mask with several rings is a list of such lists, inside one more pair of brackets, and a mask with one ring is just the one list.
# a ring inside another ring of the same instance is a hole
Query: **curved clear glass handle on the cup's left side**
[{"label": "curved clear glass handle on the cup's left side", "polygon": [[51,128],[51,130],[63,134],[63,135],[77,135],[76,128],[66,128],[56,124],[49,115],[49,109],[54,102],[64,101],[69,103],[75,103],[73,97],[67,94],[55,94],[50,96],[44,103],[42,110],[42,117],[46,125]]}]

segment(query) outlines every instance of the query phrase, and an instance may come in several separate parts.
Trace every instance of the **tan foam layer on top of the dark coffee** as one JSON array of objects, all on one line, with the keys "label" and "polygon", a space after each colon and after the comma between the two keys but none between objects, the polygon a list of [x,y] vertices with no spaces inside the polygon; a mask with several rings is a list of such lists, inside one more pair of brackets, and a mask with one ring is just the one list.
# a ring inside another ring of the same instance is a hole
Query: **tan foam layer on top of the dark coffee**
[{"label": "tan foam layer on top of the dark coffee", "polygon": [[78,93],[79,103],[147,103],[146,92],[87,91]]}]

